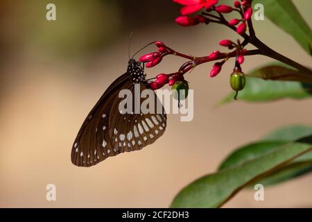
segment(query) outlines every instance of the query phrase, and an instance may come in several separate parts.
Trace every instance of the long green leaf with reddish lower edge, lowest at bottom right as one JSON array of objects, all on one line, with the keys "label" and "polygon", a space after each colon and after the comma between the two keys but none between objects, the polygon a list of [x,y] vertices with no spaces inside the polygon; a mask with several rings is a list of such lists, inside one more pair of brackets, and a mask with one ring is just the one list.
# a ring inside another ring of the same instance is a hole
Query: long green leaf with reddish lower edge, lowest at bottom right
[{"label": "long green leaf with reddish lower edge, lowest at bottom right", "polygon": [[284,144],[253,160],[204,176],[182,189],[171,207],[220,207],[257,177],[310,150],[310,144]]}]

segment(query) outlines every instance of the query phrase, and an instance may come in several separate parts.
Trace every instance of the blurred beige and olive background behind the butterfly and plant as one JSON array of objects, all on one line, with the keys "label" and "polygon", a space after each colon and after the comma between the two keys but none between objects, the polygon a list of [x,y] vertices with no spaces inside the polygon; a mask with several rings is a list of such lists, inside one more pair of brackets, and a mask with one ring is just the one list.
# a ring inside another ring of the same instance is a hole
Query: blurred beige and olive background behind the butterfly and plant
[{"label": "blurred beige and olive background behind the butterfly and plant", "polygon": [[[55,22],[45,19],[50,2],[57,7]],[[311,1],[294,2],[311,26]],[[177,26],[179,6],[170,0],[5,0],[0,10],[0,207],[168,207],[182,187],[214,172],[237,146],[281,126],[311,123],[309,100],[214,108],[229,92],[232,62],[214,79],[208,77],[212,64],[206,64],[187,75],[193,121],[169,115],[155,144],[96,167],[75,167],[73,139],[107,86],[125,71],[130,31],[132,51],[162,40],[196,56],[221,50],[220,39],[237,35],[214,25]],[[254,26],[273,49],[311,66],[300,46],[268,20]],[[243,69],[269,61],[248,57]],[[182,62],[168,57],[148,75],[176,71]],[[57,201],[46,201],[49,183],[57,187]],[[311,183],[310,174],[270,187],[262,202],[254,201],[253,191],[241,191],[224,207],[312,207]]]}]

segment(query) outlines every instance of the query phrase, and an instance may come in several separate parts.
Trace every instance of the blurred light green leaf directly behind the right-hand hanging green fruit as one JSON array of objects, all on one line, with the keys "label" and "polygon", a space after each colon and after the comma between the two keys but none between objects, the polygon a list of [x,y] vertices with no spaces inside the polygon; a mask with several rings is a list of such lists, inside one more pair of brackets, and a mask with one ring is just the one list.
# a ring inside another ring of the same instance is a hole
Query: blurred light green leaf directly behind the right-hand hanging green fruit
[{"label": "blurred light green leaf directly behind the right-hand hanging green fruit", "polygon": [[[247,76],[245,89],[239,92],[239,100],[249,102],[275,101],[277,99],[306,99],[311,97],[309,85],[298,82],[263,80]],[[312,87],[312,86],[311,86]],[[234,101],[234,92],[225,96],[220,105]]]}]

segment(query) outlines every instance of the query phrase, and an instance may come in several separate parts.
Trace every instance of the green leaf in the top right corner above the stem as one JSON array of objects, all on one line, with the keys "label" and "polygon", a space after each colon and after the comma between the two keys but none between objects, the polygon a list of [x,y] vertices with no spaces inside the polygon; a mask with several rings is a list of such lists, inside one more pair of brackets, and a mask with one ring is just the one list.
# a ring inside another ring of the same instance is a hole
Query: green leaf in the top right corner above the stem
[{"label": "green leaf in the top right corner above the stem", "polygon": [[259,3],[263,4],[268,19],[292,35],[307,53],[311,53],[311,28],[291,0],[261,0]]}]

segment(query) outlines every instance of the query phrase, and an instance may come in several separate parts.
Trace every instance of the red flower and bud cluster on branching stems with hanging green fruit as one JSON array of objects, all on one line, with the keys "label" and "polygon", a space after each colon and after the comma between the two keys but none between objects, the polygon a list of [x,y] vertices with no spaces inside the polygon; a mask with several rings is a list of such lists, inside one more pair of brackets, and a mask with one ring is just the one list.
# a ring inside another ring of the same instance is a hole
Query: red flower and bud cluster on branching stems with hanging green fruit
[{"label": "red flower and bud cluster on branching stems with hanging green fruit", "polygon": [[[218,0],[173,0],[176,3],[180,3],[183,7],[180,10],[182,16],[177,17],[175,22],[180,24],[181,26],[195,26],[197,24],[209,24],[210,22],[223,24],[229,28],[232,28],[236,33],[239,33],[246,40],[246,36],[248,36],[245,32],[247,30],[247,26],[252,26],[251,17],[252,17],[252,0],[235,0],[234,6],[228,5],[218,5]],[[201,15],[193,15],[191,14],[198,12],[199,10],[204,10]],[[211,14],[211,12],[216,12],[216,14]],[[223,14],[231,13],[231,12],[239,12],[241,18],[234,18],[229,21],[225,19]],[[253,28],[250,28],[253,31]],[[251,33],[250,33],[251,35]],[[157,46],[157,51],[152,53],[148,53],[144,56],[141,56],[139,60],[141,62],[146,63],[146,67],[155,67],[158,65],[165,56],[173,55],[180,56],[182,58],[186,58],[189,61],[185,62],[179,69],[179,71],[172,74],[158,74],[154,81],[150,82],[151,89],[159,89],[164,87],[164,85],[168,84],[173,88],[177,87],[177,84],[187,85],[187,81],[184,80],[184,74],[188,71],[194,69],[197,65],[200,65],[205,62],[211,62],[220,60],[214,63],[213,68],[210,71],[210,77],[217,76],[225,62],[229,60],[229,58],[236,58],[234,73],[231,75],[230,83],[232,89],[236,91],[236,93],[243,89],[245,86],[245,76],[243,71],[241,71],[241,64],[243,64],[245,55],[252,55],[252,51],[248,51],[245,49],[246,42],[240,42],[237,40],[236,42],[232,40],[221,40],[219,42],[220,46],[227,47],[227,49],[231,50],[228,53],[222,53],[220,51],[213,51],[209,54],[209,56],[204,57],[194,57],[188,56],[184,53],[180,53],[175,51],[163,42],[155,42]],[[183,83],[183,84],[182,84]],[[179,87],[180,87],[179,86]],[[188,85],[187,85],[188,87]],[[236,94],[237,96],[237,94]]]}]

